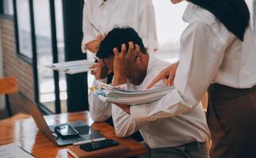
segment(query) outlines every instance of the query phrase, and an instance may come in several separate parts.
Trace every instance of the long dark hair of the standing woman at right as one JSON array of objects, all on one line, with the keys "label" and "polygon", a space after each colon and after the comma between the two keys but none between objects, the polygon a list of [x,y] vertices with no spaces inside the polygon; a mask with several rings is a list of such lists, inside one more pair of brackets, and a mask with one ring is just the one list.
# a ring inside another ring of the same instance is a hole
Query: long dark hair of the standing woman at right
[{"label": "long dark hair of the standing woman at right", "polygon": [[250,23],[250,12],[244,0],[190,0],[190,2],[213,13],[230,32],[243,41]]}]

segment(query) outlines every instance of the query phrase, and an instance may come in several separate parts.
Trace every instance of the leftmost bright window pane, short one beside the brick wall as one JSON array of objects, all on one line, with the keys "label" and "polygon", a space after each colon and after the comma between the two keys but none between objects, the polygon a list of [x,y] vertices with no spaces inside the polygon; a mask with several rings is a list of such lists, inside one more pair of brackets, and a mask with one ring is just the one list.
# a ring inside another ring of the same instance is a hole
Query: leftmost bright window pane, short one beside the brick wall
[{"label": "leftmost bright window pane, short one beside the brick wall", "polygon": [[17,52],[32,59],[32,36],[28,0],[16,1],[17,9]]}]

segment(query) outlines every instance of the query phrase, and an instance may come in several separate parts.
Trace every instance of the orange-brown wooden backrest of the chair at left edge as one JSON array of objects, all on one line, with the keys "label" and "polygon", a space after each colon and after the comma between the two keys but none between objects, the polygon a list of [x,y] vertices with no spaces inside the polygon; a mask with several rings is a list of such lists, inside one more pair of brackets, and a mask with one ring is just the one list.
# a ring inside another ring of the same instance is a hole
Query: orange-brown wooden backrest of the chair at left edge
[{"label": "orange-brown wooden backrest of the chair at left edge", "polygon": [[13,94],[18,92],[16,77],[0,78],[0,95]]}]

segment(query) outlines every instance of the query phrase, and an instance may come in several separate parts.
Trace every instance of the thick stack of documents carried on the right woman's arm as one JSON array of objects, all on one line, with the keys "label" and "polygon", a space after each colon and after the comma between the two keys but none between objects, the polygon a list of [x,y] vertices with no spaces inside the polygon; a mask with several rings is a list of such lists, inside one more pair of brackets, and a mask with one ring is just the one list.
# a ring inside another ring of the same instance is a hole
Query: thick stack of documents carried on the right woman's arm
[{"label": "thick stack of documents carried on the right woman's arm", "polygon": [[174,87],[129,90],[116,88],[112,85],[96,81],[96,85],[91,88],[91,91],[103,102],[138,105],[160,100],[163,96],[168,94],[168,92],[171,92],[173,88]]}]

